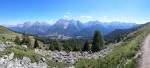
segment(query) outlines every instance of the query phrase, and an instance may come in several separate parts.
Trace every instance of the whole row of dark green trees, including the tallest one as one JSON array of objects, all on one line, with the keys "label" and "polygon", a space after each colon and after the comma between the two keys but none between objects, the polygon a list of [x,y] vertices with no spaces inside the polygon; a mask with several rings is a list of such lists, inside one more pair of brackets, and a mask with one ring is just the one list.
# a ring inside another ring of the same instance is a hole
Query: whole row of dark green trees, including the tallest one
[{"label": "whole row of dark green trees, including the tallest one", "polygon": [[[18,45],[27,45],[29,48],[38,48],[41,41],[49,46],[49,50],[58,50],[58,51],[100,51],[104,46],[104,38],[100,31],[95,31],[92,40],[82,40],[82,39],[70,39],[70,40],[51,40],[35,37],[34,44],[31,45],[31,39],[28,35],[23,34],[22,38],[16,36],[14,42]],[[44,42],[46,41],[46,42]]]}]

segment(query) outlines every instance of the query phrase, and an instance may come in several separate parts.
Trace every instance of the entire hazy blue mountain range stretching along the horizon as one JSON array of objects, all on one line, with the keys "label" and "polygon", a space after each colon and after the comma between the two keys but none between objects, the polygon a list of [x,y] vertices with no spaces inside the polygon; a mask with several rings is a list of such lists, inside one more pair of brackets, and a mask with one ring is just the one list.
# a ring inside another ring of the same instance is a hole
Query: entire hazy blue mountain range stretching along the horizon
[{"label": "entire hazy blue mountain range stretching along the horizon", "polygon": [[89,21],[82,23],[76,20],[59,19],[53,25],[46,22],[25,22],[14,26],[8,26],[13,31],[29,33],[39,36],[48,36],[53,34],[65,36],[83,36],[91,37],[95,30],[100,30],[103,35],[112,32],[115,29],[128,29],[137,26],[135,23]]}]

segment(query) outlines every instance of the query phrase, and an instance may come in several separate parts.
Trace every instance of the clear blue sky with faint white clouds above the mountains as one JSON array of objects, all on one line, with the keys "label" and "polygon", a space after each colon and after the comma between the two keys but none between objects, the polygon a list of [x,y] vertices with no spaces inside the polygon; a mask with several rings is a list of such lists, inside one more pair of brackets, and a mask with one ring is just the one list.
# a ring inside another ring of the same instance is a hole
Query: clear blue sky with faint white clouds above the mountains
[{"label": "clear blue sky with faint white clouds above the mountains", "polygon": [[82,22],[150,21],[150,0],[0,0],[0,24],[45,21],[60,18]]}]

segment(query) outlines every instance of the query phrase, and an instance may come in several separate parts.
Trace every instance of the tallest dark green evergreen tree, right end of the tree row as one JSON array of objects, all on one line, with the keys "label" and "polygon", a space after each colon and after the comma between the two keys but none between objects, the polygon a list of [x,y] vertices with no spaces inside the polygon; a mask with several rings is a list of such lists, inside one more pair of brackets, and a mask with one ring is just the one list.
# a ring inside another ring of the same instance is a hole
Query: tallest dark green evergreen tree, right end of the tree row
[{"label": "tallest dark green evergreen tree, right end of the tree row", "polygon": [[100,31],[96,30],[92,42],[92,51],[100,51],[103,48],[104,39]]}]

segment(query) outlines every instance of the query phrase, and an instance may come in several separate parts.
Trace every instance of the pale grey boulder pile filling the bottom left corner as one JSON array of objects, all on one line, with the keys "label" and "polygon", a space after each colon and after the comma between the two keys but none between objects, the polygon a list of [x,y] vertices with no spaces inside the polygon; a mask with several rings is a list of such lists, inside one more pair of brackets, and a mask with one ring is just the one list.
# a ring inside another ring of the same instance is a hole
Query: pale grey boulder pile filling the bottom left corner
[{"label": "pale grey boulder pile filling the bottom left corner", "polygon": [[47,68],[48,65],[42,60],[31,63],[30,58],[14,58],[14,53],[5,55],[0,58],[0,68]]}]

